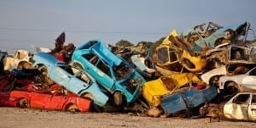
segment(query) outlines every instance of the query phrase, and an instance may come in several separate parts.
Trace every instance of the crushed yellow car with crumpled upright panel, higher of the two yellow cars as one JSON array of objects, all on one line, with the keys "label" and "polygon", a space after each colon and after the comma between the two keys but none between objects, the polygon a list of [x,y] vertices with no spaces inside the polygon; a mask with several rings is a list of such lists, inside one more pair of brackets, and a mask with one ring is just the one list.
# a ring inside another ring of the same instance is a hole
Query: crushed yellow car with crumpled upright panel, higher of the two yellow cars
[{"label": "crushed yellow car with crumpled upright panel, higher of the two yellow cars", "polygon": [[169,36],[156,47],[157,65],[166,70],[176,72],[200,73],[207,65],[207,60],[200,56],[194,56],[189,43],[179,41],[177,31],[173,30]]}]

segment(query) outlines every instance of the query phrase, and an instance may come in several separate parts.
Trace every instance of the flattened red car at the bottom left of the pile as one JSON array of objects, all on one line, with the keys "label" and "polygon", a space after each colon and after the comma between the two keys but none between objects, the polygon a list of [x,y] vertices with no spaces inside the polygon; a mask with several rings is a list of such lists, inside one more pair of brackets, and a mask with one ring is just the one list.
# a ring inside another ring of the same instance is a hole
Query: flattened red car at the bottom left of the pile
[{"label": "flattened red car at the bottom left of the pile", "polygon": [[90,110],[89,99],[71,92],[64,93],[63,88],[56,84],[48,89],[40,89],[38,84],[33,83],[17,87],[18,82],[10,79],[0,78],[0,106],[81,112]]}]

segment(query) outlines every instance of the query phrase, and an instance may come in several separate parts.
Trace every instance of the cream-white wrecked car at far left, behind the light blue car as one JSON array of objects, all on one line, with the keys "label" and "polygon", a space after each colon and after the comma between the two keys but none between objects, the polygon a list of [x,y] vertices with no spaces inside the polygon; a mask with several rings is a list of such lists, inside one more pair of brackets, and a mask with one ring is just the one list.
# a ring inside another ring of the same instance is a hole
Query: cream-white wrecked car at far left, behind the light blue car
[{"label": "cream-white wrecked car at far left, behind the light blue car", "polygon": [[17,50],[3,59],[4,70],[29,69],[32,66],[31,54],[26,50]]}]

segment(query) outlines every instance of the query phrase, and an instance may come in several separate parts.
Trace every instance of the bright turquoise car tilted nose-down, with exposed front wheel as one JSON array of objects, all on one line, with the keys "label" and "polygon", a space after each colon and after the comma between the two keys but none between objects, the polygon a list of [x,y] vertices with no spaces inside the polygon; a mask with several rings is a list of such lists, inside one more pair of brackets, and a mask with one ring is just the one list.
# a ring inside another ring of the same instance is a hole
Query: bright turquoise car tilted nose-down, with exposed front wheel
[{"label": "bright turquoise car tilted nose-down, with exposed front wheel", "polygon": [[113,103],[117,106],[131,103],[141,95],[145,83],[143,76],[100,40],[84,42],[77,47],[72,64],[94,77],[102,89],[113,96]]}]

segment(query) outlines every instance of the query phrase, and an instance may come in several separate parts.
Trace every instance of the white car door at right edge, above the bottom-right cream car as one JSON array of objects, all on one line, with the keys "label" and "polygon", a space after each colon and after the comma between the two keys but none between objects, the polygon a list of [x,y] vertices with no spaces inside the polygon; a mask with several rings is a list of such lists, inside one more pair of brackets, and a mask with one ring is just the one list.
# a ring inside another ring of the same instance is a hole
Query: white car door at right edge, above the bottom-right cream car
[{"label": "white car door at right edge, above the bottom-right cream car", "polygon": [[246,91],[256,90],[256,68],[247,72],[241,80],[241,86],[246,89]]}]

